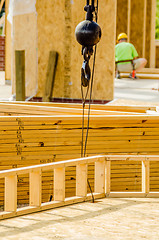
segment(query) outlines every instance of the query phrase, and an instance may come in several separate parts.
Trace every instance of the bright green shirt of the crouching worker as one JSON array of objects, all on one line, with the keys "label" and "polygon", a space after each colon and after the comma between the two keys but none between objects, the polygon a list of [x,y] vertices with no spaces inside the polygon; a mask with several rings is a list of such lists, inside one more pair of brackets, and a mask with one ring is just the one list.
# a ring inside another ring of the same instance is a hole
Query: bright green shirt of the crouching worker
[{"label": "bright green shirt of the crouching worker", "polygon": [[[138,53],[133,44],[121,42],[115,46],[115,61],[133,60],[138,57]],[[122,63],[120,63],[122,64]],[[124,63],[125,64],[125,63]]]}]

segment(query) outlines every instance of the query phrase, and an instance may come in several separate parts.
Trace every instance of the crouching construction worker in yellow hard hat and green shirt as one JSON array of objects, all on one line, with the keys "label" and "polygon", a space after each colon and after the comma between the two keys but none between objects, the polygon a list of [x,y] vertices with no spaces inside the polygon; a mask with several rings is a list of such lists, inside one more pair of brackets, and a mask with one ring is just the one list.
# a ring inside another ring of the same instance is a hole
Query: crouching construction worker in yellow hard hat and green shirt
[{"label": "crouching construction worker in yellow hard hat and green shirt", "polygon": [[[130,72],[130,78],[137,78],[134,72],[139,72],[145,67],[147,60],[137,58],[138,53],[133,44],[127,42],[126,33],[120,33],[115,46],[116,77],[120,78],[120,72]],[[130,60],[130,61],[129,61]],[[132,61],[133,60],[133,61]]]}]

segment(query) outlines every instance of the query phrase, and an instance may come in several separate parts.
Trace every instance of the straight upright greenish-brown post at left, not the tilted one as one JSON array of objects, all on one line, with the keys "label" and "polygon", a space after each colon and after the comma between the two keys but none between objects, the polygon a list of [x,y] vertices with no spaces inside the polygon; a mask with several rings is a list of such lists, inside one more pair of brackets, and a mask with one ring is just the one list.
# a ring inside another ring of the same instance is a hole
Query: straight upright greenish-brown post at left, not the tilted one
[{"label": "straight upright greenish-brown post at left, not the tilted one", "polygon": [[25,101],[25,51],[15,51],[16,101]]}]

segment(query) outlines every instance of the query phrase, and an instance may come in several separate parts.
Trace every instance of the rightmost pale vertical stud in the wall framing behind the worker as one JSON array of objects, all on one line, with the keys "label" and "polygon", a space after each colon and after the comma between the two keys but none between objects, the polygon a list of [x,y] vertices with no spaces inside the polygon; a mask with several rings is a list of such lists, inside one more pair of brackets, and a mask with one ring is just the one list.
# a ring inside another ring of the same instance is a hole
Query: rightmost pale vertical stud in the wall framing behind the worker
[{"label": "rightmost pale vertical stud in the wall framing behind the worker", "polygon": [[155,68],[155,25],[156,25],[156,0],[151,3],[151,43],[150,43],[150,68]]}]

